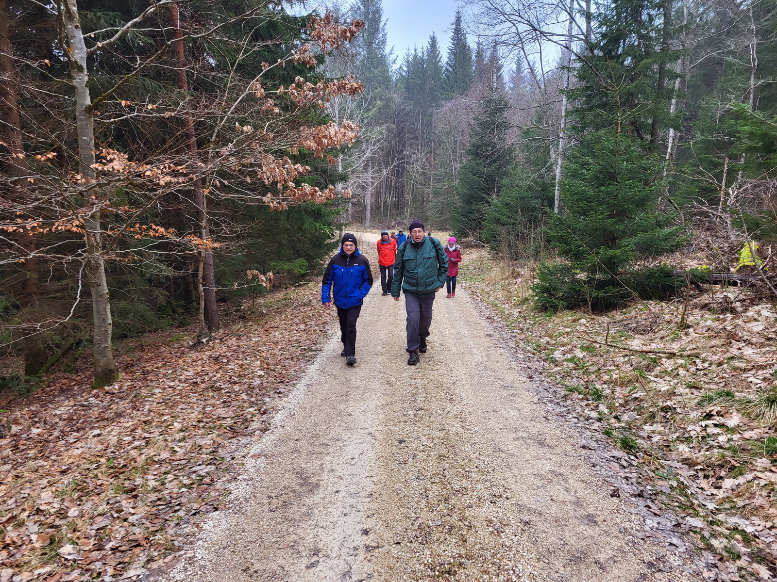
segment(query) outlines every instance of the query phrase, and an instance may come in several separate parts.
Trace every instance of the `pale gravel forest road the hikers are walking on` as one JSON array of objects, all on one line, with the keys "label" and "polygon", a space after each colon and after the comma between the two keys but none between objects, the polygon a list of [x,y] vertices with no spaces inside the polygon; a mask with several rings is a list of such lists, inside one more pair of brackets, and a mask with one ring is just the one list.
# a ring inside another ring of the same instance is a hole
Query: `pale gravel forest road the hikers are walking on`
[{"label": "pale gravel forest road the hikers are walking on", "polygon": [[465,289],[437,295],[417,366],[404,320],[376,280],[357,365],[333,326],[228,509],[161,580],[702,579],[640,533],[634,501],[611,497]]}]

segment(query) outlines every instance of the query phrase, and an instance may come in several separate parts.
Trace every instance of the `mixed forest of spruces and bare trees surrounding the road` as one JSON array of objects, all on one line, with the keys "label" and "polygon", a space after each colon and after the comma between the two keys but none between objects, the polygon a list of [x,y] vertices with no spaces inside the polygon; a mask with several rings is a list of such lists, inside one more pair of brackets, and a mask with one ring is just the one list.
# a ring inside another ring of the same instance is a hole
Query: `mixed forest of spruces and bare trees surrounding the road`
[{"label": "mixed forest of spruces and bare trees surrounding the road", "polygon": [[689,245],[773,260],[770,2],[469,0],[403,54],[379,0],[0,11],[6,383],[87,350],[110,383],[113,339],[206,338],[352,223],[542,261],[551,309],[703,279],[650,262]]}]

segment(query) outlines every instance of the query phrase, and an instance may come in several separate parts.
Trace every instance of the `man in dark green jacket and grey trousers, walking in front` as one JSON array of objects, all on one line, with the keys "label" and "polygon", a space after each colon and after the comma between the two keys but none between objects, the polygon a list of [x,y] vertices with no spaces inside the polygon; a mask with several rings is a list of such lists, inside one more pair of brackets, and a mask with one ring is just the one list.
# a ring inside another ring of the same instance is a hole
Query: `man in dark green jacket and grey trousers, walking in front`
[{"label": "man in dark green jacket and grey trousers, walking in front", "polygon": [[423,234],[420,220],[413,220],[408,230],[410,238],[396,253],[391,294],[399,301],[399,291],[405,292],[407,363],[416,365],[418,352],[427,351],[434,293],[445,284],[448,256],[440,241]]}]

